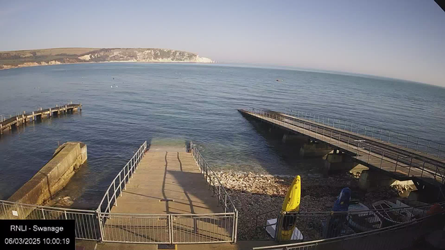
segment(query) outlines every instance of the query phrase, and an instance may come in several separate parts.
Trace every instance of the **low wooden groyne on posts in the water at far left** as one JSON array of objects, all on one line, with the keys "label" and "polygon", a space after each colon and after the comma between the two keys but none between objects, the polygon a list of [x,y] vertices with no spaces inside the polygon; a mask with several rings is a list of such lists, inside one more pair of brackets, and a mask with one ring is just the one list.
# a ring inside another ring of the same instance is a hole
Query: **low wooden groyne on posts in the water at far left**
[{"label": "low wooden groyne on posts in the water at far left", "polygon": [[44,119],[51,116],[58,116],[60,114],[74,113],[77,110],[82,110],[82,103],[79,104],[66,104],[63,106],[56,106],[54,108],[47,108],[31,113],[24,112],[22,115],[15,115],[8,119],[0,118],[0,135],[3,135],[3,131],[10,131],[13,127],[17,127],[27,122],[33,122],[35,120]]}]

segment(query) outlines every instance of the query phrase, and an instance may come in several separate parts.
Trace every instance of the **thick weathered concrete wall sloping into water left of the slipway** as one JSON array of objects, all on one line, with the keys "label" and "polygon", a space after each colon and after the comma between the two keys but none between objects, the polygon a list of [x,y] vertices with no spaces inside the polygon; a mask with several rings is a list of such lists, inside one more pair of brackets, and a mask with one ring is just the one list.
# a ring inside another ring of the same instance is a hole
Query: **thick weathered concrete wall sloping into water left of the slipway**
[{"label": "thick weathered concrete wall sloping into water left of the slipway", "polygon": [[[19,188],[8,201],[42,205],[65,187],[76,169],[86,162],[87,147],[81,142],[66,142],[56,149],[53,158]],[[22,215],[25,216],[26,215]]]}]

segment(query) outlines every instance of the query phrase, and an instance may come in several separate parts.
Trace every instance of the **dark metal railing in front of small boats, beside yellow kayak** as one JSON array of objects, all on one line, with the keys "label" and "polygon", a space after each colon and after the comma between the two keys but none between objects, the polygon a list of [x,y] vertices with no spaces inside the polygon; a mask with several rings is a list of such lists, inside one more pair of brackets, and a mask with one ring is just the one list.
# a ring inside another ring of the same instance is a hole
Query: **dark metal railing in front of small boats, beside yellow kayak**
[{"label": "dark metal railing in front of small boats, beside yellow kayak", "polygon": [[[411,222],[425,217],[431,204],[423,206],[404,206],[398,208],[355,210],[348,212],[300,212],[280,213],[280,209],[257,215],[256,231],[258,239],[275,238],[270,235],[271,227],[280,228],[286,222],[295,222],[298,228],[296,239],[321,240],[373,231],[388,226]],[[268,219],[277,218],[276,223]],[[260,226],[258,225],[260,222]],[[275,231],[275,230],[273,230]],[[277,231],[275,231],[277,233]],[[261,234],[261,235],[259,235]]]}]

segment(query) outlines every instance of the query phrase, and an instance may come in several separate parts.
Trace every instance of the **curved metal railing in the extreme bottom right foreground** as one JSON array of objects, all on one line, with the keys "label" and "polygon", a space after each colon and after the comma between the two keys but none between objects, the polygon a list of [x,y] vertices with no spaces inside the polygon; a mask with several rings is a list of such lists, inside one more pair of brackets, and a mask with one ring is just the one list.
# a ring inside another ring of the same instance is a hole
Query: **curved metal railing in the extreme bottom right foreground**
[{"label": "curved metal railing in the extreme bottom right foreground", "polygon": [[444,212],[355,235],[294,244],[254,247],[253,250],[408,249],[423,235],[434,230],[442,230],[443,227]]}]

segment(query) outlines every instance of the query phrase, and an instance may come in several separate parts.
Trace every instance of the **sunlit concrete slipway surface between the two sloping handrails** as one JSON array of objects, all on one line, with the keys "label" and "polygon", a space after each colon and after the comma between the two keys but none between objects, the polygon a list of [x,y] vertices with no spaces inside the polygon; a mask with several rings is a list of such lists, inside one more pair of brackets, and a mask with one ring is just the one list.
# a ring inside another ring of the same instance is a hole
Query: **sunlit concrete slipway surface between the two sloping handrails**
[{"label": "sunlit concrete slipway surface between the two sloping handrails", "polygon": [[191,153],[148,151],[111,213],[223,213]]}]

